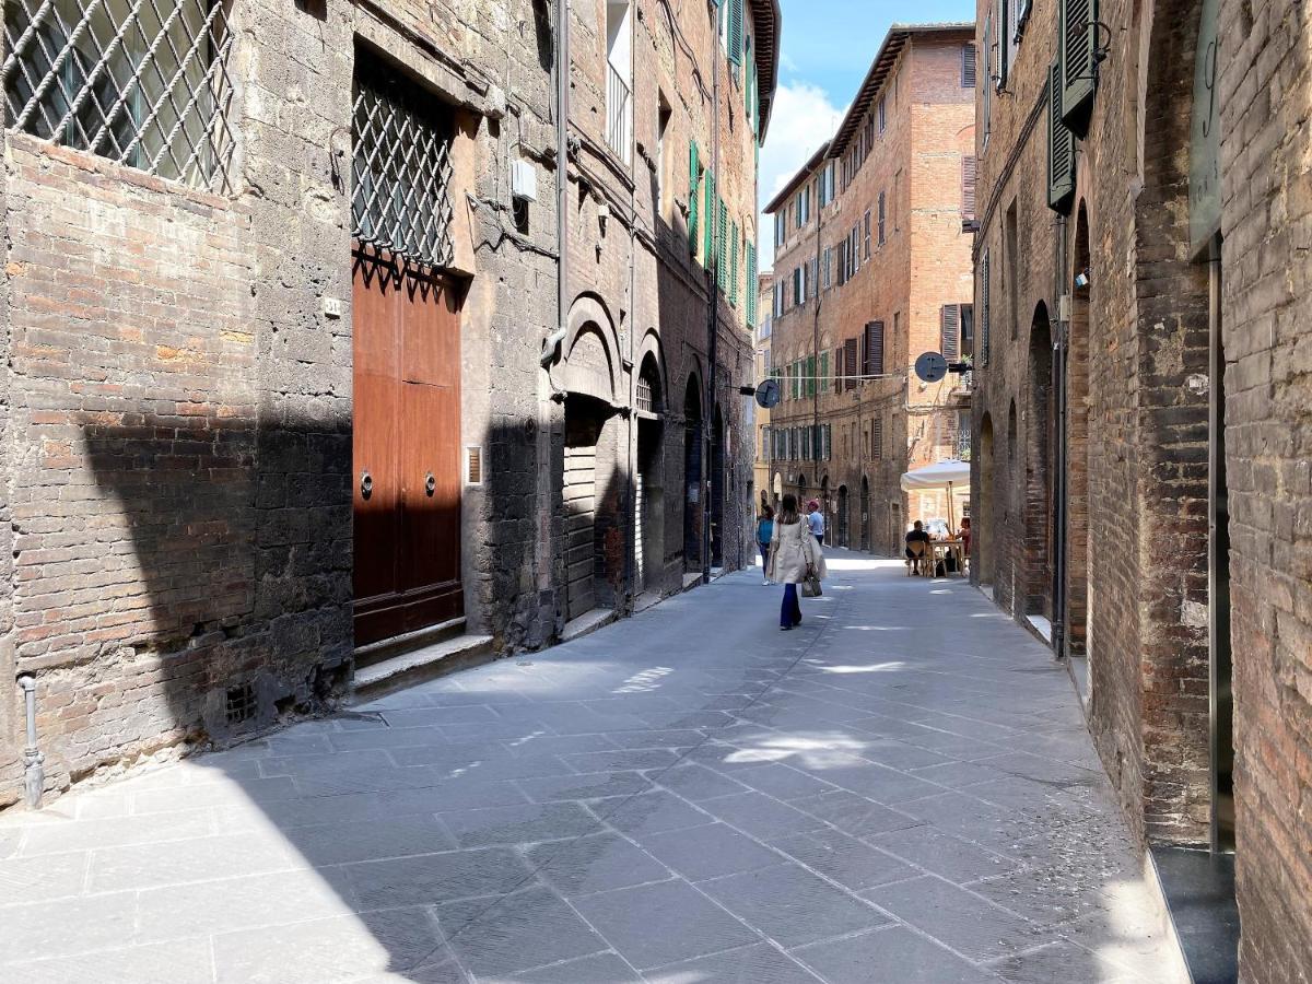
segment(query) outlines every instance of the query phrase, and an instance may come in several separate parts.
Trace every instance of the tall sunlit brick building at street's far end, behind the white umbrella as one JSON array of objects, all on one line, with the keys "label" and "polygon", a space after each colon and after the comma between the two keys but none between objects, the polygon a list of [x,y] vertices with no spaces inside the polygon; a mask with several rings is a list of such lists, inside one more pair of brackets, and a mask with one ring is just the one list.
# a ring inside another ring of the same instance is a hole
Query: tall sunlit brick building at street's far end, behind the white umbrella
[{"label": "tall sunlit brick building at street's far end, behind the white umbrella", "polygon": [[[903,472],[963,453],[960,375],[920,382],[924,352],[970,349],[974,28],[895,25],[851,109],[766,206],[774,215],[777,484],[825,505],[828,539],[900,552],[946,493]],[[955,506],[955,517],[966,506]]]}]

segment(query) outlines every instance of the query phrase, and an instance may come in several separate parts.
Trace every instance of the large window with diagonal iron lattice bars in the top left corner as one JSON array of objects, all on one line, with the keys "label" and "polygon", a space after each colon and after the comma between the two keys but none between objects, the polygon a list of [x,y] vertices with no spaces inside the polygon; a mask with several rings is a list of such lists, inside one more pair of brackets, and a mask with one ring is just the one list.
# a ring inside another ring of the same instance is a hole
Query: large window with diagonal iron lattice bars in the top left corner
[{"label": "large window with diagonal iron lattice bars in the top left corner", "polygon": [[227,0],[7,0],[7,126],[228,190]]}]

